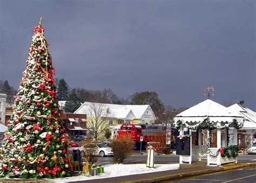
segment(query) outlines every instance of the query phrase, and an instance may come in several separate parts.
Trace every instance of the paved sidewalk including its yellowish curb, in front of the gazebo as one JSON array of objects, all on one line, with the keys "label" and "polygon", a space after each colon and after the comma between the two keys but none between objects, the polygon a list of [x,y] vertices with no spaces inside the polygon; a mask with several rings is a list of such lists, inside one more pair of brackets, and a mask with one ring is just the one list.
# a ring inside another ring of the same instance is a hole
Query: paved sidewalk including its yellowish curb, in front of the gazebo
[{"label": "paved sidewalk including its yellowish curb, in front of the gazebo", "polygon": [[178,179],[181,177],[191,177],[194,175],[206,174],[206,173],[214,173],[221,172],[226,170],[231,170],[234,168],[240,167],[248,167],[248,166],[256,166],[256,163],[237,163],[237,164],[228,164],[221,167],[218,166],[207,166],[206,161],[196,161],[191,165],[181,164],[180,169],[178,170],[170,170],[170,171],[162,171],[162,172],[154,172],[154,173],[144,173],[144,174],[136,174],[136,175],[127,175],[122,177],[112,177],[105,179],[95,179],[95,180],[87,180],[87,181],[76,181],[76,182],[156,182],[156,181],[164,181],[170,179]]}]

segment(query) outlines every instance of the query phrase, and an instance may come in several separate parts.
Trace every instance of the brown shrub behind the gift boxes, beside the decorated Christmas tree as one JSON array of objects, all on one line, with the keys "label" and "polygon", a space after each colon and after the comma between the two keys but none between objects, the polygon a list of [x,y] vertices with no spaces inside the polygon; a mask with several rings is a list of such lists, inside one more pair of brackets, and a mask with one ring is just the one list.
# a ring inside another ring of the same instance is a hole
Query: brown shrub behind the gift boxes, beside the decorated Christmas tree
[{"label": "brown shrub behind the gift boxes, beside the decorated Christmas tree", "polygon": [[81,156],[85,160],[85,163],[95,164],[97,163],[98,157],[97,154],[97,146],[95,145],[96,141],[90,138],[83,140],[83,150],[81,151]]}]

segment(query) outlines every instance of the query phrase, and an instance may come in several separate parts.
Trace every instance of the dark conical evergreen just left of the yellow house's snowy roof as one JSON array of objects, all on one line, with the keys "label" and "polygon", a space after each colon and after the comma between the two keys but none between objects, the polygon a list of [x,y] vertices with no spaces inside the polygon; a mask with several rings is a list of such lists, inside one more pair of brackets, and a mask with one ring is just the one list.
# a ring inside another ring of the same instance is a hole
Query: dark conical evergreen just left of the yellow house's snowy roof
[{"label": "dark conical evergreen just left of the yellow house's snowy roof", "polygon": [[73,89],[72,93],[69,95],[69,98],[65,103],[64,110],[65,112],[73,113],[80,107],[80,105],[80,100],[76,94],[75,89]]}]

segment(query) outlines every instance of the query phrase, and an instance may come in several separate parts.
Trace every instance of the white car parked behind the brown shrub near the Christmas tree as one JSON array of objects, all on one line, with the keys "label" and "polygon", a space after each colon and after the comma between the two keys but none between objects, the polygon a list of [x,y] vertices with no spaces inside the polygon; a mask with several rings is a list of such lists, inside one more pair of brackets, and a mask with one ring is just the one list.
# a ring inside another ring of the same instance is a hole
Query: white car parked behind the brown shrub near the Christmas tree
[{"label": "white car parked behind the brown shrub near the Christmas tree", "polygon": [[105,156],[113,156],[113,149],[109,146],[106,146],[105,144],[89,144],[89,145],[82,145],[78,149],[81,152],[81,155],[84,156],[86,153],[86,148],[95,148],[96,149],[96,155],[100,157]]}]

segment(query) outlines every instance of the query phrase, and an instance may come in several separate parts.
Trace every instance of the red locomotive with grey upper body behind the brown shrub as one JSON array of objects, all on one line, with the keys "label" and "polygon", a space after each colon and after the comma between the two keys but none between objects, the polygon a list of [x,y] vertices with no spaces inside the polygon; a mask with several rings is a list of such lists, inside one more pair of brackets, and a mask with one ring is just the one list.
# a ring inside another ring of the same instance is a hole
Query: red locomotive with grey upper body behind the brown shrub
[{"label": "red locomotive with grey upper body behind the brown shrub", "polygon": [[166,126],[153,124],[123,124],[117,131],[118,135],[130,135],[136,142],[136,149],[140,147],[140,138],[143,136],[142,149],[145,149],[147,142],[156,139],[166,139]]}]

